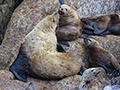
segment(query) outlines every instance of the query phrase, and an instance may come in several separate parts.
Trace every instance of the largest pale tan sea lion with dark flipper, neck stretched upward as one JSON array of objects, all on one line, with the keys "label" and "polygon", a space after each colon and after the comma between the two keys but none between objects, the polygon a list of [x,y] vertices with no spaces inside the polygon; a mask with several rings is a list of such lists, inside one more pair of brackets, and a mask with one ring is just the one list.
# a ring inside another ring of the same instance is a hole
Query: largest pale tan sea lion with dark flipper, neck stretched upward
[{"label": "largest pale tan sea lion with dark flipper, neck stretched upward", "polygon": [[43,79],[61,79],[79,72],[82,59],[74,52],[56,51],[55,28],[59,14],[48,15],[25,37],[10,71],[21,81],[27,75]]}]

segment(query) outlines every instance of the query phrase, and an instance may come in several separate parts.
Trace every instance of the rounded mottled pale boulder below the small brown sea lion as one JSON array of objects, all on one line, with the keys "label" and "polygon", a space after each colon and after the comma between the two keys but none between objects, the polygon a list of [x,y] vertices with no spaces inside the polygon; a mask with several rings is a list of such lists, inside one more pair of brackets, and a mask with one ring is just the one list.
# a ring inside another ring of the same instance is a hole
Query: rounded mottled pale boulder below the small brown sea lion
[{"label": "rounded mottled pale boulder below the small brown sea lion", "polygon": [[108,85],[107,75],[103,68],[89,68],[82,75],[78,90],[102,90]]}]

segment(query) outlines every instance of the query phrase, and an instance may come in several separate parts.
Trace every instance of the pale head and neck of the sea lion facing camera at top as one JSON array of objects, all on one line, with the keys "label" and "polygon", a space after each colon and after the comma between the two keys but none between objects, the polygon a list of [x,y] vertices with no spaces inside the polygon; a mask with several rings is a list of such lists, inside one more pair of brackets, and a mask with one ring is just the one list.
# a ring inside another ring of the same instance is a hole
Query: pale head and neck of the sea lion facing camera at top
[{"label": "pale head and neck of the sea lion facing camera at top", "polygon": [[70,6],[66,4],[62,4],[58,10],[58,13],[60,15],[60,24],[66,25],[66,24],[78,24],[80,23],[80,18],[78,16],[78,13],[71,8]]}]

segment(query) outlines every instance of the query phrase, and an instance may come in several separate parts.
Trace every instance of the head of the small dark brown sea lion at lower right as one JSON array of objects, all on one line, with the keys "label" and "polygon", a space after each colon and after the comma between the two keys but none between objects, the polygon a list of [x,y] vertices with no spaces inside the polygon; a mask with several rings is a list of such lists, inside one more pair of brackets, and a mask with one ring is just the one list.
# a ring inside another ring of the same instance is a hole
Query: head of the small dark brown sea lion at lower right
[{"label": "head of the small dark brown sea lion at lower right", "polygon": [[85,38],[84,43],[88,48],[99,46],[98,41],[96,41],[95,39],[92,39],[92,38]]}]

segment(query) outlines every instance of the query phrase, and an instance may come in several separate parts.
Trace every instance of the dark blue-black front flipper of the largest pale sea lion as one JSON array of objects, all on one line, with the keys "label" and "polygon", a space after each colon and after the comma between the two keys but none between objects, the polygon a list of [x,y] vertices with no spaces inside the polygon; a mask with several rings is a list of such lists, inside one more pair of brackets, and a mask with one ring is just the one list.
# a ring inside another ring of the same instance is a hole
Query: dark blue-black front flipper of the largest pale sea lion
[{"label": "dark blue-black front flipper of the largest pale sea lion", "polygon": [[26,60],[22,55],[18,55],[17,59],[10,66],[9,70],[15,75],[17,79],[27,82],[27,66]]}]

